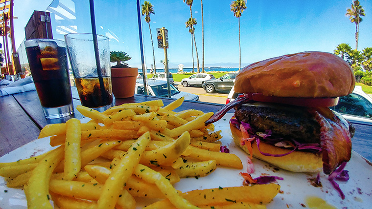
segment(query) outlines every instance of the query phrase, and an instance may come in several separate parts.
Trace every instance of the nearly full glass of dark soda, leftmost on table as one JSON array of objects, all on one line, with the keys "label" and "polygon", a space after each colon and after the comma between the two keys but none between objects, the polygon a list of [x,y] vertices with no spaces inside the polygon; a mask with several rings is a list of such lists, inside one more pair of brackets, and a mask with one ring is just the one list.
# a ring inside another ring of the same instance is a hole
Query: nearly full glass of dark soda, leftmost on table
[{"label": "nearly full glass of dark soda, leftmost on table", "polygon": [[66,43],[31,39],[24,45],[45,117],[55,119],[73,114]]}]

